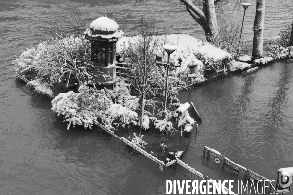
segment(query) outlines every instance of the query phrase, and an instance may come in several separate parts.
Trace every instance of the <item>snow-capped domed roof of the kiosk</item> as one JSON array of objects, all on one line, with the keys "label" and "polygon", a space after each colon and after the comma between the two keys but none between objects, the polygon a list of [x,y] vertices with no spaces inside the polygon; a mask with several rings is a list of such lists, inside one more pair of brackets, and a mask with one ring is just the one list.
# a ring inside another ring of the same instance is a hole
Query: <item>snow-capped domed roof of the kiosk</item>
[{"label": "snow-capped domed roof of the kiosk", "polygon": [[[90,29],[96,32],[103,32],[107,34],[113,34],[116,30],[118,30],[119,25],[112,19],[109,19],[105,14],[104,16],[97,18],[94,20],[90,26]],[[103,33],[103,34],[104,34]]]}]

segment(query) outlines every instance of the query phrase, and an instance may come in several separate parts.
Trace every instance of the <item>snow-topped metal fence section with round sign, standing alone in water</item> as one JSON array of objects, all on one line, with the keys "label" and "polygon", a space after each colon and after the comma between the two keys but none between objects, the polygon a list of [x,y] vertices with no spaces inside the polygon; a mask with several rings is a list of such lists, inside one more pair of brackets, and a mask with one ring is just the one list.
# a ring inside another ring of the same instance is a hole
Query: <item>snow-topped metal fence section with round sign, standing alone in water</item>
[{"label": "snow-topped metal fence section with round sign, standing alone in water", "polygon": [[231,161],[225,156],[222,156],[218,151],[211,149],[207,146],[204,147],[203,156],[209,159],[209,165],[216,165],[223,168],[235,176],[238,176],[238,180],[248,180],[254,182],[259,187],[263,187],[266,193],[271,193],[272,185],[269,185],[271,180],[266,179],[263,176]]}]

